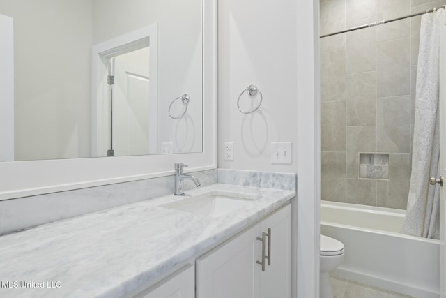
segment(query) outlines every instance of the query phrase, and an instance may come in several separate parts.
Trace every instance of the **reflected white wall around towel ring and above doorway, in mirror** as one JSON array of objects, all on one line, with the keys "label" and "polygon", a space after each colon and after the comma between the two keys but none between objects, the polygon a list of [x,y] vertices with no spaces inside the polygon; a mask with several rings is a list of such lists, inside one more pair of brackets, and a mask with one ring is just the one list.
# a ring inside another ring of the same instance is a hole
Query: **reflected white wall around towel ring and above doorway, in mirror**
[{"label": "reflected white wall around towel ring and above doorway, in mirror", "polygon": [[[174,9],[173,9],[174,8]],[[132,17],[123,17],[129,16]],[[173,142],[174,153],[202,151],[201,0],[95,0],[93,45],[158,23],[158,151]],[[172,100],[189,94],[185,117],[174,120]]]}]

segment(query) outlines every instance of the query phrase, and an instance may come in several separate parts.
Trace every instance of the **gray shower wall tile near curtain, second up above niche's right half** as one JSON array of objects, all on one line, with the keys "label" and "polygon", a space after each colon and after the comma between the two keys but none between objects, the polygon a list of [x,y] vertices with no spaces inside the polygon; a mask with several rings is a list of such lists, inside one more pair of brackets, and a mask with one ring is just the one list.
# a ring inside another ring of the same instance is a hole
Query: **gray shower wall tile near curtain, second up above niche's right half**
[{"label": "gray shower wall tile near curtain, second up above niche's right half", "polygon": [[410,38],[377,44],[376,87],[378,97],[410,94]]}]

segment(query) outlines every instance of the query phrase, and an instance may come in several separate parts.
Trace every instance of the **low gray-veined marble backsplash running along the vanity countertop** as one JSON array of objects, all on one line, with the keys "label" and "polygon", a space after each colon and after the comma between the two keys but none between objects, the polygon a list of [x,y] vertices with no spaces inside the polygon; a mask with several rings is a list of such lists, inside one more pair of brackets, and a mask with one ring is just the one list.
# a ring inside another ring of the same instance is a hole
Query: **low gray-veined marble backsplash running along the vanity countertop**
[{"label": "low gray-veined marble backsplash running along the vanity countertop", "polygon": [[[193,174],[201,186],[221,183],[296,190],[297,177],[293,173],[217,169]],[[195,187],[192,181],[185,181],[184,186],[185,191]],[[174,193],[173,175],[2,200],[0,235],[171,193]]]}]

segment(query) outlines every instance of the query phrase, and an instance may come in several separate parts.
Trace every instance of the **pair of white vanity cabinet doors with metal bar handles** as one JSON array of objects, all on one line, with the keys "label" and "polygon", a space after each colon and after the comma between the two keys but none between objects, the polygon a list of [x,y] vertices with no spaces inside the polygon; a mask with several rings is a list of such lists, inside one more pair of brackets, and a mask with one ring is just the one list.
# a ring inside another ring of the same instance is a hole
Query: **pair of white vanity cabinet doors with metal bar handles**
[{"label": "pair of white vanity cabinet doors with metal bar handles", "polygon": [[291,297],[291,205],[198,258],[196,270],[197,298]]}]

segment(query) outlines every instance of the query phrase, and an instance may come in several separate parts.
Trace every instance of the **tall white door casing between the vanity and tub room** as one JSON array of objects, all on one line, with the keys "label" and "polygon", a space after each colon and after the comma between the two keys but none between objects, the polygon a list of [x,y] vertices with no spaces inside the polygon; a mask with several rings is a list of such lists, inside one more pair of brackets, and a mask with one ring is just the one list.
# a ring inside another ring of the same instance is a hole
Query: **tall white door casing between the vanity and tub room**
[{"label": "tall white door casing between the vanity and tub room", "polygon": [[321,117],[319,2],[300,1],[298,20],[298,297],[319,297]]}]

